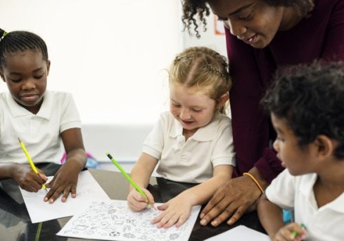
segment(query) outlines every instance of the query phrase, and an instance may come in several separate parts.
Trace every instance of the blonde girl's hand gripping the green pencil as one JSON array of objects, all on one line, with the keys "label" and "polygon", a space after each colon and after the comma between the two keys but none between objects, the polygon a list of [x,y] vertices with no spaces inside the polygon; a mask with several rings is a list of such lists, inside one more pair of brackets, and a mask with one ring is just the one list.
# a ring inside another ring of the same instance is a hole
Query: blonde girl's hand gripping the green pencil
[{"label": "blonde girl's hand gripping the green pencil", "polygon": [[[154,205],[153,195],[151,195],[151,193],[143,187],[141,187],[141,190],[144,192],[144,194],[146,194],[149,202]],[[147,199],[144,198],[138,191],[136,191],[136,189],[133,189],[131,192],[129,192],[127,202],[132,211],[141,211],[148,206]]]}]

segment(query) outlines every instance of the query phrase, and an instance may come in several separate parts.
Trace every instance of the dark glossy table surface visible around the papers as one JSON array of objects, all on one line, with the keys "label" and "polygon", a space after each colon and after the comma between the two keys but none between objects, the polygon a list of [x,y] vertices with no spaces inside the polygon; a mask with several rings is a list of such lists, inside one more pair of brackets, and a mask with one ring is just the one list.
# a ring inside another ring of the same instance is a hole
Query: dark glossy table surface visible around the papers
[{"label": "dark glossy table surface visible around the papers", "polygon": [[[42,169],[47,176],[53,176],[60,167],[56,164],[36,165]],[[98,181],[109,198],[114,200],[126,200],[129,183],[122,174],[115,171],[89,169],[92,176]],[[35,240],[38,223],[32,224],[28,210],[25,207],[21,192],[17,183],[13,180],[2,180],[0,182],[0,240]],[[154,196],[155,202],[166,202],[173,196],[178,195],[184,189],[192,187],[187,183],[172,182],[162,178],[151,178],[149,190]],[[80,210],[82,211],[82,210]],[[71,217],[58,218],[42,223],[39,240],[80,240],[78,238],[65,238],[55,235],[68,222]],[[264,232],[259,223],[257,212],[246,213],[238,222],[228,226],[226,222],[214,228],[200,225],[197,218],[189,240],[204,240],[213,235],[227,231],[238,225],[245,225],[251,229]]]}]

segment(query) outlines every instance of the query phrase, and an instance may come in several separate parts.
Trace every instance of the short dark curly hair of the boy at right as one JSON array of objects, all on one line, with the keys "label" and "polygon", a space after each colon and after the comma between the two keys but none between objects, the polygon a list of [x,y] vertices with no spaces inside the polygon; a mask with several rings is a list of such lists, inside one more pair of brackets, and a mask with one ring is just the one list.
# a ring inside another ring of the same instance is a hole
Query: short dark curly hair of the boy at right
[{"label": "short dark curly hair of the boy at right", "polygon": [[344,62],[279,70],[261,103],[286,120],[300,147],[323,134],[338,141],[334,156],[344,158]]}]

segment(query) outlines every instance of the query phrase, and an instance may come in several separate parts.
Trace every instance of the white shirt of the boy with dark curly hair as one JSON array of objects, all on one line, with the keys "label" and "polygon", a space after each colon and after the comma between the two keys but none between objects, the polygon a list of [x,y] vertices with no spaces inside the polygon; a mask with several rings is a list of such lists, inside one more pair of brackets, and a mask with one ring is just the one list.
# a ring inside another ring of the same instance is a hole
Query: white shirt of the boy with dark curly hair
[{"label": "white shirt of the boy with dark curly hair", "polygon": [[295,222],[305,224],[306,240],[344,240],[344,193],[321,208],[316,205],[313,186],[316,174],[292,176],[288,169],[266,189],[268,199],[282,209],[295,211]]}]

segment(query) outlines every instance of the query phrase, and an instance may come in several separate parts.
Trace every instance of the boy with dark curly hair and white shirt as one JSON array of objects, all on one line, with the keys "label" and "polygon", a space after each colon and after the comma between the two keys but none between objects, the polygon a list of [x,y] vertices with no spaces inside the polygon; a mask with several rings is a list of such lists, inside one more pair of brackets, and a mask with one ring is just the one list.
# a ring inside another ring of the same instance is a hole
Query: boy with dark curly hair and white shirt
[{"label": "boy with dark curly hair and white shirt", "polygon": [[[344,63],[283,70],[262,103],[286,170],[259,200],[261,224],[272,240],[343,240]],[[284,226],[281,209],[295,222]]]}]

